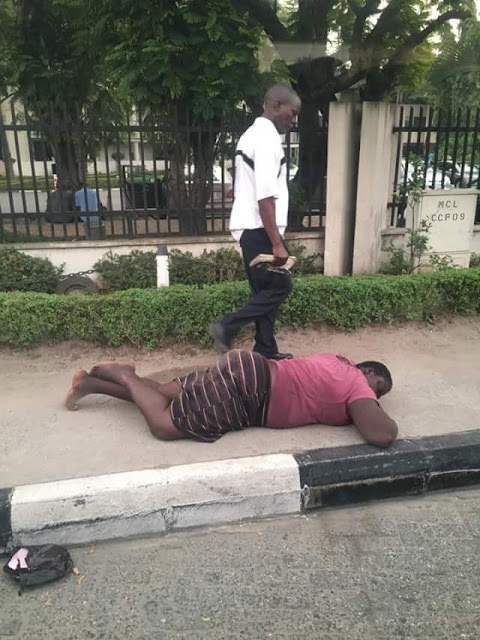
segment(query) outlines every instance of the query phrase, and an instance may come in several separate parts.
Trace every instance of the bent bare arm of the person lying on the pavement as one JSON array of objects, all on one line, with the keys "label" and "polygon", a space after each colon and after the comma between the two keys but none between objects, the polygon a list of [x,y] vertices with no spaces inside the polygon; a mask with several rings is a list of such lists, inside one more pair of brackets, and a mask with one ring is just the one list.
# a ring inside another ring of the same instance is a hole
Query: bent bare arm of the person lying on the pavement
[{"label": "bent bare arm of the person lying on the pavement", "polygon": [[397,439],[397,423],[375,400],[354,400],[348,405],[348,411],[354,425],[369,444],[389,447]]}]

